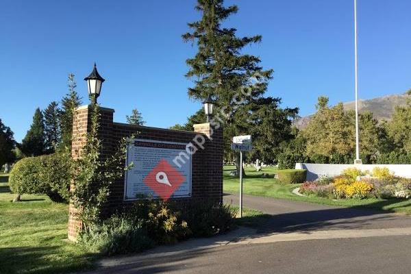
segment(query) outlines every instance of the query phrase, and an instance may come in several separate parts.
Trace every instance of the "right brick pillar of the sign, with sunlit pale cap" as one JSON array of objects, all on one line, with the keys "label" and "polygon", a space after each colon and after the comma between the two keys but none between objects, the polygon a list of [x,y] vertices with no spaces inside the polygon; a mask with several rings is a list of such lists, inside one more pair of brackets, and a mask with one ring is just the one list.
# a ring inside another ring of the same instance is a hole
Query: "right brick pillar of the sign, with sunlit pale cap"
[{"label": "right brick pillar of the sign, with sunlit pale cap", "polygon": [[194,131],[204,134],[208,137],[205,151],[201,159],[205,176],[204,183],[208,188],[210,197],[216,202],[223,202],[223,157],[224,157],[224,140],[223,127],[214,127],[210,123],[193,125]]}]

